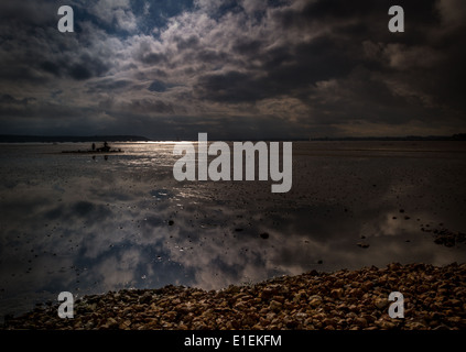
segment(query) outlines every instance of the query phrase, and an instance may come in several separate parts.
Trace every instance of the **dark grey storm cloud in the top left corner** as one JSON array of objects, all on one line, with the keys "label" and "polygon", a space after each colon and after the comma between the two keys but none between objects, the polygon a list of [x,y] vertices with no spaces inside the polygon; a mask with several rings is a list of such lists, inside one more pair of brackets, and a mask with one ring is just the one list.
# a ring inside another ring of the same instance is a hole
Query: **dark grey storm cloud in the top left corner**
[{"label": "dark grey storm cloud in the top left corner", "polygon": [[[6,80],[45,84],[54,77],[85,80],[105,74],[106,57],[89,51],[89,33],[59,33],[59,1],[24,1],[3,12],[0,75]],[[52,75],[54,77],[48,76]]]}]

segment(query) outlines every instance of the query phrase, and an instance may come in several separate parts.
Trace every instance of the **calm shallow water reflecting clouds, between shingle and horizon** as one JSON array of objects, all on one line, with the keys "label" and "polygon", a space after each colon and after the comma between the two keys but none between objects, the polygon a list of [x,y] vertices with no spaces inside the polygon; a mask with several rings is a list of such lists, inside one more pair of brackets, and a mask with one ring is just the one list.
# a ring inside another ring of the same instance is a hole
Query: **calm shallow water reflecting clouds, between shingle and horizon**
[{"label": "calm shallow water reflecting clouds, between shingle and horizon", "polygon": [[295,142],[286,194],[178,183],[173,145],[115,143],[124,153],[107,161],[61,153],[87,144],[0,145],[0,316],[63,290],[465,262],[466,243],[435,244],[421,228],[466,230],[466,143]]}]

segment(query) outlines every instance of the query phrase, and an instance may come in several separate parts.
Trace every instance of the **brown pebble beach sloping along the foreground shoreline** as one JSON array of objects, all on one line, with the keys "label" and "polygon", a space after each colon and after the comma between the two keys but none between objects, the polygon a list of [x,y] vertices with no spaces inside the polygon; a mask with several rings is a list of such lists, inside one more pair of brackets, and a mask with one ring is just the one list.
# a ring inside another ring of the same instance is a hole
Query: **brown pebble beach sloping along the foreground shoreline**
[{"label": "brown pebble beach sloping along the foreground shoreline", "polygon": [[[46,330],[458,330],[466,328],[466,264],[389,264],[307,272],[220,290],[165,286],[89,295],[74,318],[56,305],[6,320],[3,329]],[[404,318],[390,318],[391,292]]]}]

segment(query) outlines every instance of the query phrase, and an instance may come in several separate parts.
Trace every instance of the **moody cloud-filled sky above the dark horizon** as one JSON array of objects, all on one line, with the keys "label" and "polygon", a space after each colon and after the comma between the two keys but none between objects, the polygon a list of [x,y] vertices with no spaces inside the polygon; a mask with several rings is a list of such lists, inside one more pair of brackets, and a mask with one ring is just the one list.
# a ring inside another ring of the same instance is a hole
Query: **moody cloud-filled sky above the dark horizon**
[{"label": "moody cloud-filled sky above the dark horizon", "polygon": [[465,20],[463,0],[1,1],[0,134],[462,133]]}]

